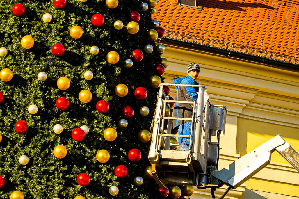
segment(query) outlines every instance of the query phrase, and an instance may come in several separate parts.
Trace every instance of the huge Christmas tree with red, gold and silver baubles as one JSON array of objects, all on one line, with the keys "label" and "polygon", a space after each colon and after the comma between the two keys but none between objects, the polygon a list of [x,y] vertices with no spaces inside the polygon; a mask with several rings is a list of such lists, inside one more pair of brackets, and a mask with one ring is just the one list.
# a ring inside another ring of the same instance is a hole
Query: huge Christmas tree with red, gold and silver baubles
[{"label": "huge Christmas tree with red, gold and silver baubles", "polygon": [[156,3],[0,0],[0,198],[157,198]]}]

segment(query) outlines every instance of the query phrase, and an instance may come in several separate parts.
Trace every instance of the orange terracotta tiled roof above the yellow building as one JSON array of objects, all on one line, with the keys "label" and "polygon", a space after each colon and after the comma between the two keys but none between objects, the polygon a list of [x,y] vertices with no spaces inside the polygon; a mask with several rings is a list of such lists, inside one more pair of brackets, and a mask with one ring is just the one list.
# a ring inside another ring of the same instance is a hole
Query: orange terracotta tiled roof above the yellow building
[{"label": "orange terracotta tiled roof above the yellow building", "polygon": [[197,0],[196,5],[158,0],[152,19],[166,38],[299,64],[298,1]]}]

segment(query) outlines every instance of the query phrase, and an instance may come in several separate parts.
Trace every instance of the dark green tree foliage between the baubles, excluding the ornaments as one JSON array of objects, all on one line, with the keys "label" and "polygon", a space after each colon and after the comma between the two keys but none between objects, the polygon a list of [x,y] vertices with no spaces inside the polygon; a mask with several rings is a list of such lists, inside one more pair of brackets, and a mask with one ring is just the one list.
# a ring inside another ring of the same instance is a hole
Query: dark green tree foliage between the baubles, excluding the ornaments
[{"label": "dark green tree foliage between the baubles, excluding the ornaments", "polygon": [[[136,48],[143,51],[144,46],[154,42],[147,39],[147,30],[153,28],[150,9],[141,11],[142,1],[120,0],[118,7],[109,9],[103,0],[67,0],[63,9],[57,9],[53,1],[21,1],[26,7],[23,16],[13,15],[11,9],[16,1],[0,0],[0,47],[8,50],[6,56],[0,57],[0,69],[9,68],[13,79],[9,82],[0,81],[0,91],[5,96],[0,105],[0,175],[5,178],[5,185],[0,189],[0,198],[9,198],[11,192],[19,190],[25,198],[74,198],[82,195],[90,198],[156,198],[155,181],[144,176],[144,168],[149,165],[147,151],[149,143],[141,143],[137,134],[142,129],[149,130],[153,110],[155,108],[158,89],[149,87],[149,77],[154,75],[155,64],[161,58],[155,50],[151,54],[144,53],[141,62],[134,63],[130,69],[124,68],[125,59],[132,59],[132,51]],[[113,26],[116,20],[124,25],[129,22],[128,16],[132,10],[141,14],[138,22],[140,30],[130,35],[124,27],[116,30]],[[45,23],[42,15],[51,13],[52,21]],[[91,22],[91,16],[100,13],[104,16],[104,25],[97,28]],[[79,25],[83,28],[83,36],[73,39],[69,29]],[[22,48],[20,40],[30,35],[35,43],[33,48]],[[56,57],[51,52],[53,44],[60,42],[65,46],[65,54]],[[97,45],[100,52],[93,55],[90,46]],[[106,54],[117,51],[120,61],[111,65],[106,62]],[[94,78],[85,80],[86,70],[94,73]],[[41,82],[37,74],[47,73],[47,80]],[[57,79],[66,76],[71,80],[71,87],[65,91],[57,88]],[[120,98],[115,95],[115,86],[124,83],[129,88],[129,94]],[[145,100],[138,101],[134,90],[143,86],[148,91]],[[89,89],[93,98],[84,104],[79,101],[78,94],[82,89]],[[67,110],[58,110],[55,101],[59,96],[65,96],[70,101]],[[98,113],[95,105],[100,99],[110,104],[108,113]],[[38,113],[28,113],[28,106],[36,104]],[[118,120],[123,117],[122,109],[131,106],[134,116],[128,119],[128,127],[120,129]],[[147,106],[148,116],[141,116],[139,109]],[[25,134],[16,133],[14,124],[18,120],[28,123]],[[53,126],[61,124],[64,128],[61,134],[53,132]],[[81,142],[71,138],[71,131],[87,125],[89,134]],[[103,131],[113,127],[118,137],[113,142],[103,138]],[[53,155],[55,145],[64,145],[68,154],[63,159]],[[142,159],[131,162],[127,153],[132,148],[138,148]],[[102,164],[96,159],[96,152],[106,149],[110,160]],[[25,154],[29,157],[27,165],[19,163],[19,157]],[[126,165],[128,175],[118,179],[114,174],[117,165]],[[91,177],[89,186],[77,184],[77,175],[87,172]],[[136,176],[144,178],[144,184],[136,187],[133,179]],[[110,186],[118,186],[119,194],[109,195]]]}]

